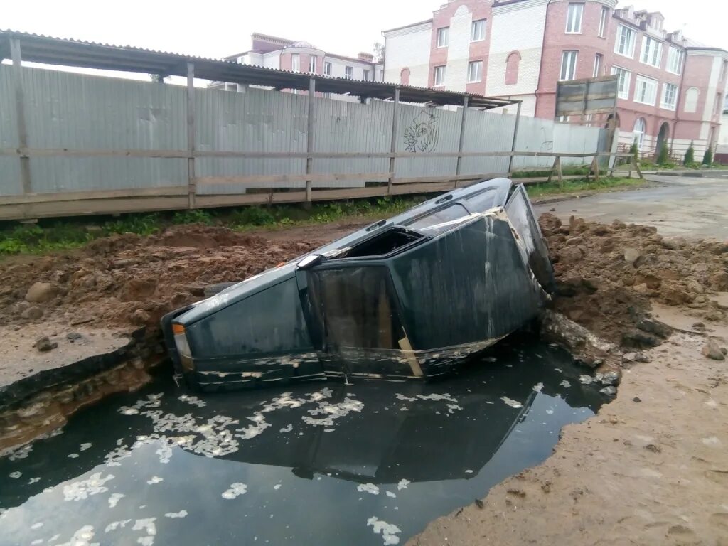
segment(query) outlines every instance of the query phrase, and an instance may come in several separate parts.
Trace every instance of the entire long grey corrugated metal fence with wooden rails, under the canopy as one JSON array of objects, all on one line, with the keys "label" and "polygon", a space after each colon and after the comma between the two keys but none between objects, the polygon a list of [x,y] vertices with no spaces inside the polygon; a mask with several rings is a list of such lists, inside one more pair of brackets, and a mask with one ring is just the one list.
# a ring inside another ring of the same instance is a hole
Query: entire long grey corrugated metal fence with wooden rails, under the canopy
[{"label": "entire long grey corrugated metal fence with wooden rails, under the canopy", "polygon": [[0,219],[441,191],[606,151],[604,130],[472,108],[15,68],[0,65]]}]

